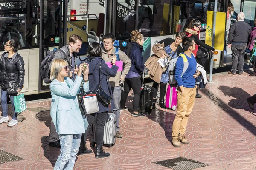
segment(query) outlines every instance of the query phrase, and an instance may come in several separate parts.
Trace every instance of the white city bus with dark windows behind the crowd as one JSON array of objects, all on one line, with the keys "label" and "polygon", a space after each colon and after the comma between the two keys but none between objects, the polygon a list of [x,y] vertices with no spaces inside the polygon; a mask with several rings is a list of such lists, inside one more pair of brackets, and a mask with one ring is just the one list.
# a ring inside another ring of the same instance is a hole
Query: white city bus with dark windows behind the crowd
[{"label": "white city bus with dark windows behind the crowd", "polygon": [[[87,2],[0,0],[0,55],[4,52],[4,44],[11,38],[22,45],[18,52],[25,61],[24,94],[49,91],[49,85],[44,84],[39,76],[39,65],[48,50],[62,47],[71,34],[82,37],[83,46],[79,52],[82,56],[88,45],[86,30],[95,32],[100,40],[105,26],[106,33],[114,34],[123,49],[131,31],[138,29],[145,37],[143,57],[146,61],[155,43],[166,37],[174,37],[177,31],[184,31],[192,17],[200,19],[204,24],[200,35],[201,40],[204,40],[207,11],[212,11],[215,5],[214,0],[111,0],[107,1],[106,6],[105,0]],[[245,21],[254,26],[256,1],[218,0],[218,11],[226,12],[229,2],[235,8],[234,19],[240,11],[244,11]],[[87,8],[90,14],[88,24]],[[218,51],[214,55],[214,68],[230,64],[229,50]]]}]

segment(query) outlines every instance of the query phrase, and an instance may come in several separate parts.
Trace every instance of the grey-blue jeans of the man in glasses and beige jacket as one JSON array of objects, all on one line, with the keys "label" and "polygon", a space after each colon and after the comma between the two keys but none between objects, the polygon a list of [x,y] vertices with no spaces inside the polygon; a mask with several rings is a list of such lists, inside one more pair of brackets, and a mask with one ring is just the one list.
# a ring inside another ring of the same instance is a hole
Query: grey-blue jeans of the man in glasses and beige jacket
[{"label": "grey-blue jeans of the man in glasses and beige jacket", "polygon": [[116,115],[116,131],[120,130],[119,121],[120,121],[120,101],[121,101],[121,93],[122,89],[120,86],[111,87],[113,93],[113,100],[115,108],[113,109],[113,113]]}]

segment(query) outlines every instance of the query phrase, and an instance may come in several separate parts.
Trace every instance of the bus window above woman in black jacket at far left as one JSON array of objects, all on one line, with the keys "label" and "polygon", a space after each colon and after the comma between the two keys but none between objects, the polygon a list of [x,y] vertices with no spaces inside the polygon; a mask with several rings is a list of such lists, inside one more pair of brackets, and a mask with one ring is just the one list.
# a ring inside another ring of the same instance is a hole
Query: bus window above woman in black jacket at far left
[{"label": "bus window above woman in black jacket at far left", "polygon": [[26,34],[29,33],[28,17],[29,2],[22,0],[0,1],[0,51],[4,50],[5,43],[10,39],[20,42],[21,47],[28,48],[29,40]]}]

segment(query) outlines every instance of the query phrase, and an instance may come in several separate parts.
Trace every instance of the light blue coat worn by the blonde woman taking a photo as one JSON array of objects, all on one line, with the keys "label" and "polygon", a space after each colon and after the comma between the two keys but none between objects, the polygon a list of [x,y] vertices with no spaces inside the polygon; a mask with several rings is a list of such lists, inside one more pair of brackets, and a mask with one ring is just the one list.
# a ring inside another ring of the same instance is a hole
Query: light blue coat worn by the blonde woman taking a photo
[{"label": "light blue coat worn by the blonde woman taking a photo", "polygon": [[[74,82],[67,77],[64,80],[67,84],[57,79],[50,84],[52,121],[58,134],[85,133],[88,122],[83,119],[76,99],[83,78],[76,76]],[[83,88],[85,92],[89,91],[89,83],[83,83]]]}]

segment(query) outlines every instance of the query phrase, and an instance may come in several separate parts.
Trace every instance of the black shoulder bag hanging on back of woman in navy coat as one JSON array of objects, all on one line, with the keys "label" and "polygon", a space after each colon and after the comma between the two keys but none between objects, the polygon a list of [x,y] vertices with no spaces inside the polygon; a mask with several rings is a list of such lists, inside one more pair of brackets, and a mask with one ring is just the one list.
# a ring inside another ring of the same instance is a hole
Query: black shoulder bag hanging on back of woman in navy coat
[{"label": "black shoulder bag hanging on back of woman in navy coat", "polygon": [[[96,90],[97,99],[103,106],[105,107],[109,106],[111,108],[112,96],[108,96],[108,94],[100,86],[100,75],[101,75],[100,70],[101,70],[101,62],[99,63],[99,85],[98,85],[98,89]],[[109,88],[110,85],[107,77],[106,77],[106,80]],[[109,93],[111,94],[110,89],[109,89]]]}]

